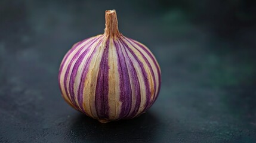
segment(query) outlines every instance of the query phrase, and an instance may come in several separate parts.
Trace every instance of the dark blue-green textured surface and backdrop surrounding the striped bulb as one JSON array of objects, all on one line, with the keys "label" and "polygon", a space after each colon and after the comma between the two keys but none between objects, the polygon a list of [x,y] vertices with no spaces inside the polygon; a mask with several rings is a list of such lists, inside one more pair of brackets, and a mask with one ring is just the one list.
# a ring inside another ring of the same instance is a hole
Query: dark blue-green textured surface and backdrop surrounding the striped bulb
[{"label": "dark blue-green textured surface and backdrop surrounding the striped bulb", "polygon": [[[1,1],[0,142],[256,142],[253,3]],[[158,59],[162,89],[146,114],[102,124],[64,102],[57,75],[114,8]]]}]

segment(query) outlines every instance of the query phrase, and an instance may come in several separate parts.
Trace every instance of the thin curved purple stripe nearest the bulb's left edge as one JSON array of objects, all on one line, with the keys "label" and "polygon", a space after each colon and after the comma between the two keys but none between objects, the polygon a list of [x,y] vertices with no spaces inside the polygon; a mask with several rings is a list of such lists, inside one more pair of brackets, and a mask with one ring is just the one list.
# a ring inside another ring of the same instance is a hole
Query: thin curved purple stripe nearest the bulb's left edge
[{"label": "thin curved purple stripe nearest the bulb's left edge", "polygon": [[[98,39],[98,38],[97,38]],[[97,41],[97,39],[95,41]],[[94,39],[92,39],[89,44],[93,41]],[[91,43],[91,45],[95,42],[93,41]],[[90,46],[91,46],[90,45]],[[65,76],[64,76],[64,89],[67,93],[67,76],[69,75],[69,71],[70,71],[70,68],[72,66],[72,63],[75,61],[75,59],[78,57],[78,55],[81,53],[82,49],[84,49],[86,45],[82,46],[77,52],[76,54],[73,56],[72,60],[70,61],[69,65],[67,66],[67,70],[66,70],[66,73],[65,73]],[[89,48],[89,47],[88,47]],[[69,98],[69,100],[72,102],[73,105],[75,105],[76,108],[78,108],[78,105],[76,105],[76,102],[75,102],[75,98],[74,97],[71,97],[70,95],[67,94],[67,97]]]}]

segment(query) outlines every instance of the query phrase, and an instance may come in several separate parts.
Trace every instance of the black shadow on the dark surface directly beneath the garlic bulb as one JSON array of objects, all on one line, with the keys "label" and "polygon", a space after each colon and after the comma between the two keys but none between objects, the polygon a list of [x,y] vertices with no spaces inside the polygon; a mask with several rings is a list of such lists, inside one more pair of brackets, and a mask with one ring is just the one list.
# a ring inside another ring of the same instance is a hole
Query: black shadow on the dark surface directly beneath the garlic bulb
[{"label": "black shadow on the dark surface directly beneath the garlic bulb", "polygon": [[67,136],[70,142],[147,142],[154,140],[155,126],[158,126],[158,118],[150,112],[135,119],[110,123],[100,123],[79,113]]}]

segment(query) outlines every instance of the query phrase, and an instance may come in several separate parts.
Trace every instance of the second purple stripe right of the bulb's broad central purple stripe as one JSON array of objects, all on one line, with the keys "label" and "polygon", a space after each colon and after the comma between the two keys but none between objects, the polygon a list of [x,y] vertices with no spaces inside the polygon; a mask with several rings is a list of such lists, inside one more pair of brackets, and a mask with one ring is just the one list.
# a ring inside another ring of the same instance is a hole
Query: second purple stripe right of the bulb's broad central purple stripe
[{"label": "second purple stripe right of the bulb's broad central purple stripe", "polygon": [[[127,66],[131,73],[132,85],[134,87],[134,95],[135,95],[135,100],[136,100],[135,105],[134,105],[135,106],[134,110],[130,112],[131,114],[129,116],[127,116],[128,119],[131,119],[132,117],[134,117],[137,114],[138,109],[140,108],[140,100],[141,100],[140,83],[138,82],[138,76],[137,76],[134,64],[132,63],[131,58],[128,55],[127,49],[125,48],[124,51],[125,51],[125,58],[127,59]],[[134,102],[134,101],[132,101],[132,102]]]}]

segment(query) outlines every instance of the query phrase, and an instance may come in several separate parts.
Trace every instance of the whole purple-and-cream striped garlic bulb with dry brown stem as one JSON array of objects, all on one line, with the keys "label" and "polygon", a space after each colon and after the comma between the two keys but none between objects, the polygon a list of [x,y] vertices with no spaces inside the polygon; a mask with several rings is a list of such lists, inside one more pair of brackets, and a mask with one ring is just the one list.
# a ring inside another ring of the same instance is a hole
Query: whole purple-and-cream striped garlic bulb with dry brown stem
[{"label": "whole purple-and-cream striped garlic bulb with dry brown stem", "polygon": [[119,33],[115,10],[105,17],[104,34],[75,43],[58,75],[64,100],[102,123],[140,116],[155,102],[161,85],[152,52]]}]

